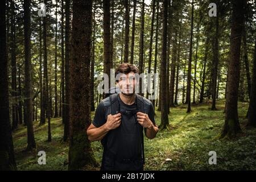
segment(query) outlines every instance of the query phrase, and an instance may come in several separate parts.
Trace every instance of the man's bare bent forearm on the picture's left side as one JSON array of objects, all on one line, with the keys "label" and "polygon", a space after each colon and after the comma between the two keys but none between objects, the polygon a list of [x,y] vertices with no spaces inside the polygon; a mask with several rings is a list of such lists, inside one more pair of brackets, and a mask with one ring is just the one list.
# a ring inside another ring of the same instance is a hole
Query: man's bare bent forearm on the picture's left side
[{"label": "man's bare bent forearm on the picture's left side", "polygon": [[98,141],[104,138],[108,131],[109,129],[106,125],[102,125],[101,127],[88,130],[87,135],[90,141]]}]

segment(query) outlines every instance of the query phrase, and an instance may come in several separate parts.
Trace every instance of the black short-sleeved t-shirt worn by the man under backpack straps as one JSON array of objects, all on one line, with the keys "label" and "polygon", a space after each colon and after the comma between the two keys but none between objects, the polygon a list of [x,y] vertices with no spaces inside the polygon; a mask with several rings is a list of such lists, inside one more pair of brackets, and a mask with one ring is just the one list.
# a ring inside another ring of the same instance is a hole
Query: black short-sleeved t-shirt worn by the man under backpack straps
[{"label": "black short-sleeved t-shirt worn by the man under backpack straps", "polygon": [[[120,111],[137,110],[137,99],[132,105],[123,103],[118,94]],[[106,108],[101,101],[96,109],[93,119],[93,125],[100,127],[106,123]],[[148,117],[155,124],[154,107],[150,102],[150,112]],[[117,129],[108,132],[107,148],[117,158],[132,159],[136,156],[142,156],[142,126],[137,121],[135,114],[122,114],[121,125]],[[107,135],[106,135],[107,136]]]}]

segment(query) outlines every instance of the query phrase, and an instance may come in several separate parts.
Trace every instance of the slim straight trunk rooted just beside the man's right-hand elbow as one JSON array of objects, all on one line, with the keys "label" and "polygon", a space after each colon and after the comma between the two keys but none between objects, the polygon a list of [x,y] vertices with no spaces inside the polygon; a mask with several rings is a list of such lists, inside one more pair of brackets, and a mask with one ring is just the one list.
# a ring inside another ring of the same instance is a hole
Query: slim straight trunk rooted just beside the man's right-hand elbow
[{"label": "slim straight trunk rooted just beside the man's right-hand elbow", "polygon": [[[162,34],[162,63],[161,63],[161,84],[167,84],[167,22],[168,22],[168,0],[163,0],[163,34]],[[161,88],[161,123],[159,129],[168,129],[168,105],[166,102],[167,89],[166,86]]]}]

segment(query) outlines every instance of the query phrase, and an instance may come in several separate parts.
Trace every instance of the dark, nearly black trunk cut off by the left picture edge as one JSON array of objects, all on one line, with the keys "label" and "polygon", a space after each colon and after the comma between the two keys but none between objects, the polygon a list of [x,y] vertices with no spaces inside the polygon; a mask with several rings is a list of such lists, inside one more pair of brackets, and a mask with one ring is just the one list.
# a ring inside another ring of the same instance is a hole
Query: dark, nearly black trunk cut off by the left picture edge
[{"label": "dark, nearly black trunk cut off by the left picture edge", "polygon": [[0,170],[16,170],[9,118],[8,64],[6,47],[6,1],[0,3]]}]

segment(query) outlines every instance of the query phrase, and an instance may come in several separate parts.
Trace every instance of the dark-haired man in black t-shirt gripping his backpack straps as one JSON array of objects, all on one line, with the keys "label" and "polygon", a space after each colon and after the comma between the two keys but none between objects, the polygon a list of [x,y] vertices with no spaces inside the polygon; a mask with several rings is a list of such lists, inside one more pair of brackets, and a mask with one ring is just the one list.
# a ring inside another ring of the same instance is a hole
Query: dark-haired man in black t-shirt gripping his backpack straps
[{"label": "dark-haired man in black t-shirt gripping his backpack straps", "polygon": [[115,71],[119,93],[100,102],[87,135],[104,146],[101,170],[143,170],[143,128],[147,138],[158,133],[154,107],[135,93],[138,68],[123,63]]}]

